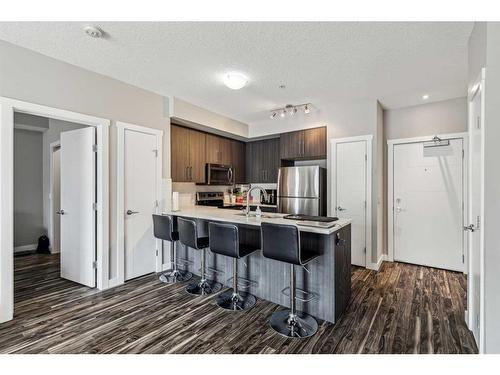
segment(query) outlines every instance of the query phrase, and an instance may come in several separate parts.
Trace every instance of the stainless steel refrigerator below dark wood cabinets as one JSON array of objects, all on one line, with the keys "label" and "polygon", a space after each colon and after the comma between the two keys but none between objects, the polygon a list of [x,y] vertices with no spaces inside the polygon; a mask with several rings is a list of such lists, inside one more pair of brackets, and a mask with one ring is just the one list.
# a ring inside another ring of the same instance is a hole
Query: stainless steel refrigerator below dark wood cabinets
[{"label": "stainless steel refrigerator below dark wood cabinets", "polygon": [[280,168],[278,211],[326,216],[326,169],[319,166]]}]

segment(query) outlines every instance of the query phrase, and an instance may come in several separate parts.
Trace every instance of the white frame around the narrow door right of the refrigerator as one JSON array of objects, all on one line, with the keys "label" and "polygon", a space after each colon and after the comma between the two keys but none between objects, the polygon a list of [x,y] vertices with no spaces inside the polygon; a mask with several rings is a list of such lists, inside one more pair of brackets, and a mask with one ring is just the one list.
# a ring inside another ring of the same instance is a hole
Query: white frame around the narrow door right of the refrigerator
[{"label": "white frame around the narrow door right of the refrigerator", "polygon": [[[372,262],[371,254],[373,249],[372,244],[372,194],[373,194],[373,181],[372,181],[372,158],[373,158],[373,135],[361,135],[357,137],[346,137],[346,138],[332,138],[330,139],[330,165],[332,167],[331,181],[331,207],[337,207],[337,185],[335,179],[337,176],[337,145],[339,143],[353,143],[353,142],[366,142],[366,210],[365,210],[365,267],[369,269],[378,270],[378,262]],[[333,211],[332,211],[333,214]]]}]

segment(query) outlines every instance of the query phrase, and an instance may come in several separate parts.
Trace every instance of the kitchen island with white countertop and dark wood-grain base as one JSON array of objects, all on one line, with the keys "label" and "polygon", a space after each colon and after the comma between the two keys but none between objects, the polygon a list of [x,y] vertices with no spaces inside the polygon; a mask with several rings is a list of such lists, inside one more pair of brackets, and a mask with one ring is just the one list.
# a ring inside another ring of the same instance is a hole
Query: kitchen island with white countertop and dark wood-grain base
[{"label": "kitchen island with white countertop and dark wood-grain base", "polygon": [[[297,225],[302,249],[319,254],[305,268],[296,266],[297,308],[332,323],[344,312],[351,297],[351,225],[340,219],[330,228],[301,225],[300,221],[283,218],[283,214],[263,213],[262,217],[249,216],[237,210],[193,206],[179,211],[166,211],[165,215],[196,219],[200,236],[208,236],[209,222],[233,223],[238,226],[240,242],[260,248],[262,222]],[[313,223],[309,223],[314,225]],[[177,256],[189,260],[186,269],[199,275],[200,252],[178,245]],[[289,271],[285,263],[264,258],[261,251],[239,261],[239,277],[246,279],[247,290],[258,298],[289,307],[289,297],[282,293],[289,285]],[[228,279],[233,274],[232,260],[219,254],[207,253],[209,278],[231,287]],[[299,290],[309,294],[302,296]],[[313,296],[314,298],[307,301]]]}]

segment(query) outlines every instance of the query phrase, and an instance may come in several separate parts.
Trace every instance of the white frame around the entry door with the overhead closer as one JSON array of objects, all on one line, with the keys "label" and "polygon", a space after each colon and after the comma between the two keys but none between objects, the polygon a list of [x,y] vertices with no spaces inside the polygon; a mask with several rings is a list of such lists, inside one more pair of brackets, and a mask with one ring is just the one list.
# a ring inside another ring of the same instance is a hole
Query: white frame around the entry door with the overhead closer
[{"label": "white frame around the entry door with the overhead closer", "polygon": [[[442,139],[462,139],[462,224],[466,222],[468,214],[468,157],[469,157],[469,136],[467,132],[462,133],[442,133],[436,134]],[[387,141],[387,260],[394,262],[394,146],[411,143],[422,143],[432,140],[433,135],[413,138],[391,139]],[[466,273],[467,261],[467,238],[466,233],[462,234],[462,252],[464,255],[463,272]]]}]

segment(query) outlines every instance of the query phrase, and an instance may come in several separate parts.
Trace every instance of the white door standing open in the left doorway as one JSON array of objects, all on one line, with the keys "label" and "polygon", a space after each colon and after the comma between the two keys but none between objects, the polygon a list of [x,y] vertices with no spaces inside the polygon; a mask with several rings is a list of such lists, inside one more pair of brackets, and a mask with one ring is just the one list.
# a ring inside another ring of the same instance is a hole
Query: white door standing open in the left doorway
[{"label": "white door standing open in the left doorway", "polygon": [[61,133],[61,277],[95,287],[95,128]]}]

